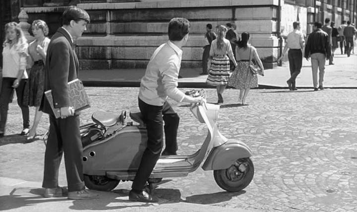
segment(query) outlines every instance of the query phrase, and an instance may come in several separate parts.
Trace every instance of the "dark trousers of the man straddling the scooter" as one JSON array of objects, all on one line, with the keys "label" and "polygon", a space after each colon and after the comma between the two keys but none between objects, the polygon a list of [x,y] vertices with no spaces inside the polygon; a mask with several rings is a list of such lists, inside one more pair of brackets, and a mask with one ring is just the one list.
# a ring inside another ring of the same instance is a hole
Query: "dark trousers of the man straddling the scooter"
[{"label": "dark trousers of the man straddling the scooter", "polygon": [[163,122],[165,121],[165,151],[177,151],[177,132],[179,128],[179,115],[168,102],[163,106],[152,106],[139,99],[140,112],[143,115],[147,129],[147,147],[141,158],[131,188],[142,191],[163,148]]}]

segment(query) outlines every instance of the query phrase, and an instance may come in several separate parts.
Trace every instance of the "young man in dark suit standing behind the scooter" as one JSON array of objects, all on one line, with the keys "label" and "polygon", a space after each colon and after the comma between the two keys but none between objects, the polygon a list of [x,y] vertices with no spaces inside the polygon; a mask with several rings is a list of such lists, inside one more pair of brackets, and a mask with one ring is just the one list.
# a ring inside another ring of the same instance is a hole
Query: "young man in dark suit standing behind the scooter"
[{"label": "young man in dark suit standing behind the scooter", "polygon": [[56,118],[45,95],[40,110],[50,116],[50,130],[45,152],[44,197],[64,196],[66,191],[58,185],[60,161],[64,162],[68,183],[68,199],[97,198],[85,189],[83,182],[82,143],[79,114],[74,112],[68,97],[68,82],[78,78],[78,58],[73,40],[80,37],[90,21],[88,13],[76,6],[68,7],[62,15],[60,27],[48,46],[45,65],[45,91],[52,90],[53,104],[60,108]]}]

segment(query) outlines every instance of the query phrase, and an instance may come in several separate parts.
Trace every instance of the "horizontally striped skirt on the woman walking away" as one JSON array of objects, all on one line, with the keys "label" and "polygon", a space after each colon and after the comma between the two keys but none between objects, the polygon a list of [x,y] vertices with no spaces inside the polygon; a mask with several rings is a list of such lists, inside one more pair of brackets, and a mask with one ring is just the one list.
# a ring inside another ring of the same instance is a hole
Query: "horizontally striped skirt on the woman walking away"
[{"label": "horizontally striped skirt on the woman walking away", "polygon": [[227,85],[230,77],[230,64],[227,55],[215,55],[211,59],[211,67],[206,83],[212,86]]}]

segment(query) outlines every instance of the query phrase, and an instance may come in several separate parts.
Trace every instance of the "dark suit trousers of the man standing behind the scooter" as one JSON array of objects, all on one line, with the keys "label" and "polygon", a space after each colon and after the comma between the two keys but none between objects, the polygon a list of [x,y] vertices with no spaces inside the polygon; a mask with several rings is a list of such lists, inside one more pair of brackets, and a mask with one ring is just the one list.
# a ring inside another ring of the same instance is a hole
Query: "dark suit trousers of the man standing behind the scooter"
[{"label": "dark suit trousers of the man standing behind the scooter", "polygon": [[79,115],[55,118],[50,115],[42,187],[56,188],[60,161],[64,153],[68,191],[83,190],[83,147],[79,132]]}]

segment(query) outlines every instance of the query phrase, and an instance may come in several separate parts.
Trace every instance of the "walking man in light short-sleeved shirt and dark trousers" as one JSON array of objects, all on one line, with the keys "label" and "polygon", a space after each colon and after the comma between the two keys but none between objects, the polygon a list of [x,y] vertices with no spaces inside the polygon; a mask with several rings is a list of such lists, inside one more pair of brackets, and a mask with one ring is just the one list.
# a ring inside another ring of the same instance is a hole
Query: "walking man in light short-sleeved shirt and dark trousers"
[{"label": "walking man in light short-sleeved shirt and dark trousers", "polygon": [[290,67],[290,79],[287,81],[289,90],[296,91],[296,78],[301,71],[302,67],[302,50],[304,47],[304,36],[300,32],[300,22],[295,21],[293,23],[294,31],[288,34],[287,44],[284,47],[283,54],[279,57],[281,60],[285,53],[289,49],[289,67]]}]

